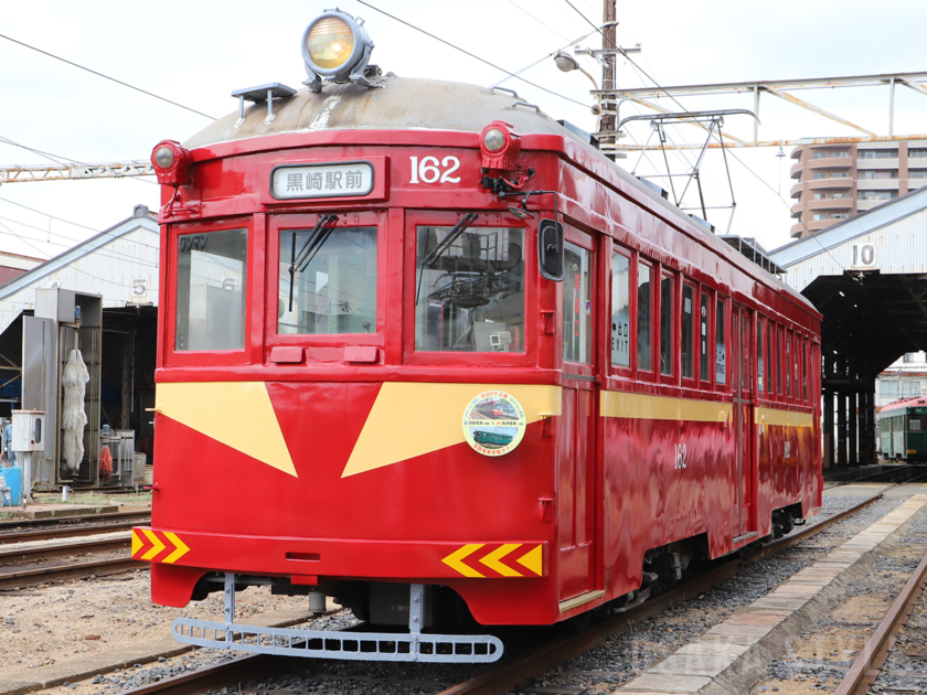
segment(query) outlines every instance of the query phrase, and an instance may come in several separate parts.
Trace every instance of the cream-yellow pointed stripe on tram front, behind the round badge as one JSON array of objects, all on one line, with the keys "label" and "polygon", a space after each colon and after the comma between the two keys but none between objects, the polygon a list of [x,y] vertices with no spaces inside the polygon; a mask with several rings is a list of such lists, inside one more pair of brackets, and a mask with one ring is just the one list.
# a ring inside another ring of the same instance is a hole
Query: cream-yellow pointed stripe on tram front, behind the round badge
[{"label": "cream-yellow pointed stripe on tram front, behind the round badge", "polygon": [[341,477],[462,443],[466,441],[461,426],[464,410],[484,391],[504,391],[514,396],[524,408],[529,425],[561,414],[560,386],[386,382]]}]

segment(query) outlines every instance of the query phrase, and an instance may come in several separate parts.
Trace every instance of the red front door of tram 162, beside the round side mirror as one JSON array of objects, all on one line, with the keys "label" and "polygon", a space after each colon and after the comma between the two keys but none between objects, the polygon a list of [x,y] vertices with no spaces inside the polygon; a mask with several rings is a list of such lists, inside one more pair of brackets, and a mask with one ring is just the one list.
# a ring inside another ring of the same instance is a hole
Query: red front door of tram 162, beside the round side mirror
[{"label": "red front door of tram 162, beside the round side mirror", "polygon": [[[575,237],[574,237],[575,238]],[[583,235],[580,243],[592,246]],[[594,253],[566,243],[563,314],[563,411],[557,442],[560,600],[595,588],[596,442]]]}]

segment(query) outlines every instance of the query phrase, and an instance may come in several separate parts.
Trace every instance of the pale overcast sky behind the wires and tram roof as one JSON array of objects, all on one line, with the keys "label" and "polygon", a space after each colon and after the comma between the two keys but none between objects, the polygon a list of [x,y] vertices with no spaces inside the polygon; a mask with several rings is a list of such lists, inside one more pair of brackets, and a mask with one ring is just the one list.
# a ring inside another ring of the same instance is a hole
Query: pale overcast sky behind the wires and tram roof
[{"label": "pale overcast sky behind the wires and tram roof", "polygon": [[[596,0],[571,0],[587,18],[601,21]],[[220,117],[236,108],[230,94],[268,82],[301,86],[306,78],[300,39],[306,25],[332,2],[126,2],[33,0],[0,3],[0,138],[62,160],[110,162],[147,159],[159,140],[180,141],[210,119],[103,79],[42,55],[9,39],[66,58],[183,106]],[[371,4],[511,72],[534,63],[593,31],[566,0],[372,0]],[[342,10],[366,20],[375,43],[373,63],[384,72],[490,85],[503,72],[408,29],[355,0]],[[898,0],[875,11],[857,0],[781,0],[776,3],[690,0],[618,2],[618,40],[641,44],[631,57],[661,85],[750,79],[784,79],[927,71],[923,28],[927,2]],[[601,47],[598,34],[580,42]],[[600,68],[584,58],[598,78]],[[595,128],[589,81],[564,74],[546,60],[523,73],[563,97],[510,79],[555,118]],[[651,86],[621,62],[618,83]],[[801,92],[799,96],[878,133],[887,132],[888,89]],[[775,101],[775,103],[774,103]],[[665,100],[663,101],[665,103]],[[683,99],[688,109],[752,108],[752,97]],[[672,106],[672,105],[668,105]],[[627,113],[630,115],[630,110]],[[624,115],[624,114],[622,114]],[[772,97],[760,104],[760,139],[841,137],[855,131]],[[752,137],[749,119],[729,118],[726,130]],[[703,131],[680,127],[678,141],[703,139]],[[927,132],[927,96],[898,88],[896,133]],[[647,127],[631,136],[646,139]],[[786,153],[789,153],[787,148]],[[694,160],[695,153],[690,154]],[[757,237],[767,249],[788,243],[788,197],[793,160],[775,149],[738,150],[731,160],[737,212],[731,232]],[[44,164],[49,159],[0,143],[0,165]],[[622,162],[633,168],[637,156]],[[742,163],[743,162],[743,163]],[[670,164],[684,171],[676,154]],[[650,156],[637,173],[665,171]],[[729,205],[731,193],[717,151],[704,168],[706,204]],[[695,204],[695,197],[686,202]],[[0,186],[0,249],[50,257],[128,217],[132,206],[157,209],[153,179],[60,181]],[[25,205],[33,212],[22,207]],[[52,217],[54,218],[52,218]],[[708,211],[723,232],[729,211]]]}]

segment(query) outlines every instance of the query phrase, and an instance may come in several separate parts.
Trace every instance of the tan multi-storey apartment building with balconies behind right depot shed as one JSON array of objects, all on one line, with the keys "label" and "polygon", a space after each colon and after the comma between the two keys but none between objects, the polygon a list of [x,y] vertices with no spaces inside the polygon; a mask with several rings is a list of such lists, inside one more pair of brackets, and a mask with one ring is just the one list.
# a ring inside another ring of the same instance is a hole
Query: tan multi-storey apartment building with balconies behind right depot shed
[{"label": "tan multi-storey apartment building with balconies behind right depot shed", "polygon": [[791,158],[792,238],[927,184],[927,140],[799,145]]}]

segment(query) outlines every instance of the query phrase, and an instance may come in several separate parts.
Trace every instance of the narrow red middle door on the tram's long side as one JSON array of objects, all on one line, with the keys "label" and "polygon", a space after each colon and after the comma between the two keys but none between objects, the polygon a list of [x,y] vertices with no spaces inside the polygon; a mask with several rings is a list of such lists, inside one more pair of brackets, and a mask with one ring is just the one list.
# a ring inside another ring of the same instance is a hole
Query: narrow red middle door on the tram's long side
[{"label": "narrow red middle door on the tram's long side", "polygon": [[735,304],[731,314],[731,338],[734,365],[732,392],[734,395],[734,441],[736,457],[737,490],[733,514],[734,537],[738,538],[754,531],[750,524],[754,496],[754,378],[752,314],[749,310]]}]

